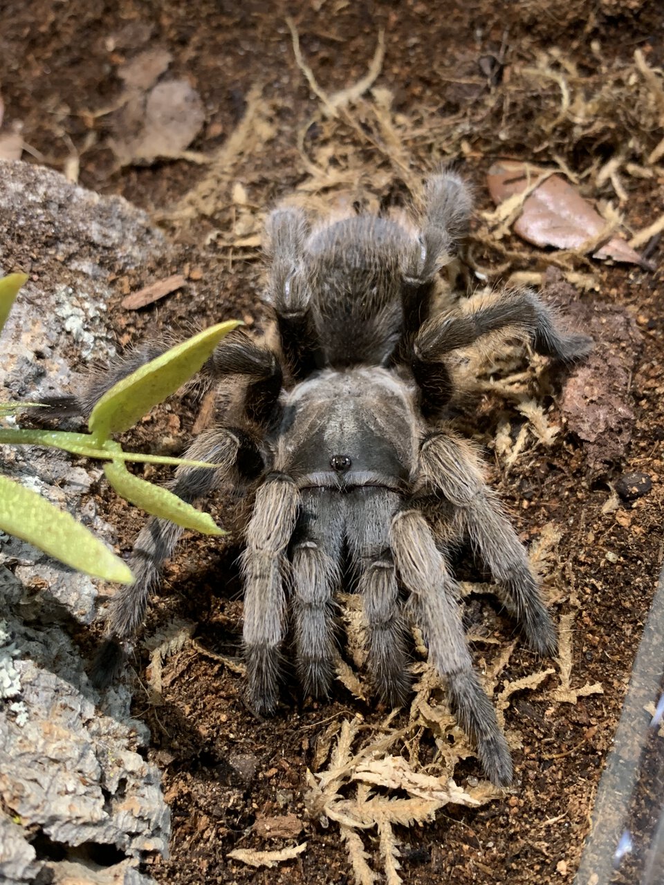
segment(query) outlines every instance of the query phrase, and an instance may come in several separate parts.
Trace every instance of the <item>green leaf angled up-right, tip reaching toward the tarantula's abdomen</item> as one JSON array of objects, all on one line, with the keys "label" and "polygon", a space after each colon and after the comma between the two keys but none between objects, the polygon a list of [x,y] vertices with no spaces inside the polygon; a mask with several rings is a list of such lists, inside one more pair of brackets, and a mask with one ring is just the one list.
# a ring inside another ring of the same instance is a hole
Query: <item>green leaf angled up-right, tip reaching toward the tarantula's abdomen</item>
[{"label": "green leaf angled up-right, tip reaching toward the tarantula's abdomen", "polygon": [[221,339],[241,325],[239,319],[230,319],[205,329],[113,385],[89,417],[88,427],[97,442],[133,427],[153,405],[189,381]]}]

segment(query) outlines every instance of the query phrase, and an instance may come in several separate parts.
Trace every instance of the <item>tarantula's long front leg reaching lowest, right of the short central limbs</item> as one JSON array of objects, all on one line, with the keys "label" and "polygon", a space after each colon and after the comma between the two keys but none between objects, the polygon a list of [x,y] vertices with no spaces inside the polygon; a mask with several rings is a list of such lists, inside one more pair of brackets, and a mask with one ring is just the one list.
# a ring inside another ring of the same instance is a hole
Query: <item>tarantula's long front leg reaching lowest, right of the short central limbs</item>
[{"label": "tarantula's long front leg reaching lowest, right of the short central limbs", "polygon": [[459,725],[475,741],[484,772],[493,783],[511,783],[513,766],[496,711],[472,669],[457,598],[459,588],[436,549],[419,511],[399,512],[391,527],[398,573],[411,592],[415,622],[429,644],[429,660],[447,677]]}]

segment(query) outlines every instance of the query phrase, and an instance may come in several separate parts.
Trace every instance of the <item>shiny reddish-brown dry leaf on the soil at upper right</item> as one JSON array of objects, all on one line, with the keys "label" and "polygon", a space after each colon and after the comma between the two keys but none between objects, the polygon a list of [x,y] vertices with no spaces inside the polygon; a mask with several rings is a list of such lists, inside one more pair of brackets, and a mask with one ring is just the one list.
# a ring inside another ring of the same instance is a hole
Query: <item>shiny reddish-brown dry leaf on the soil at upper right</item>
[{"label": "shiny reddish-brown dry leaf on the soil at upper right", "polygon": [[[490,195],[498,205],[512,201],[544,170],[528,164],[501,160],[487,175]],[[593,252],[593,258],[643,265],[641,256],[627,242],[606,236],[606,220],[560,175],[551,174],[523,201],[513,223],[514,233],[536,246]],[[608,242],[601,242],[606,236]],[[596,241],[599,242],[596,242]],[[599,248],[598,248],[599,247]]]}]

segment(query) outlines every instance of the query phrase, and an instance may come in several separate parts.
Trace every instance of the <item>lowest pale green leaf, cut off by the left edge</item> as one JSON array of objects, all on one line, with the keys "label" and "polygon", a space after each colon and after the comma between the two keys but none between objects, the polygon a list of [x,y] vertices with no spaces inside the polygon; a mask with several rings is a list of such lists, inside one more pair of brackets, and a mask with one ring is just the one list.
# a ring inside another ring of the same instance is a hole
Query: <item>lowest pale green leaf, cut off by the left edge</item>
[{"label": "lowest pale green leaf, cut off by the left edge", "polygon": [[34,544],[79,572],[130,584],[134,575],[70,513],[0,475],[0,530]]}]

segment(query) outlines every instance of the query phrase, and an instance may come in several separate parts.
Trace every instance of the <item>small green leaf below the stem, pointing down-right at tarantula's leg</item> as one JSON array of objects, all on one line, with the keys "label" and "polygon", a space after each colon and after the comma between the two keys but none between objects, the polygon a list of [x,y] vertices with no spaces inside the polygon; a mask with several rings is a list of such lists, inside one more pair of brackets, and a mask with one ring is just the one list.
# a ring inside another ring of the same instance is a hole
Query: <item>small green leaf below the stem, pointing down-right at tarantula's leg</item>
[{"label": "small green leaf below the stem, pointing down-right at tarantula's leg", "polygon": [[106,479],[113,489],[143,510],[158,516],[160,519],[170,519],[183,528],[194,528],[204,535],[226,535],[223,529],[214,524],[209,513],[203,513],[182,501],[173,492],[164,489],[163,486],[155,486],[153,483],[142,480],[139,476],[129,473],[122,461],[112,461],[104,465]]}]

